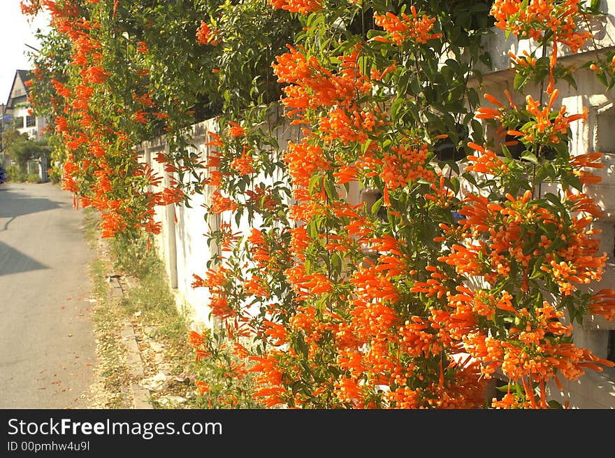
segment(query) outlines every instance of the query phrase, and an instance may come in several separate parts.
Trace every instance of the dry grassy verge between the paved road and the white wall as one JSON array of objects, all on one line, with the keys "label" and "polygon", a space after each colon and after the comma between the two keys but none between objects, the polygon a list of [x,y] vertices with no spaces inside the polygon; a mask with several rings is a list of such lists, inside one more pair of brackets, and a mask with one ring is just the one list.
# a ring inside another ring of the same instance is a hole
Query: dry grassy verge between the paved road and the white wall
[{"label": "dry grassy verge between the paved road and the white wall", "polygon": [[[181,396],[184,401],[175,408],[193,408],[196,389],[194,349],[189,345],[188,323],[175,303],[168,287],[164,264],[147,241],[129,238],[100,238],[99,213],[85,209],[85,238],[99,256],[90,271],[94,282],[96,306],[93,310],[94,326],[99,340],[99,374],[108,391],[106,408],[126,408],[130,403],[126,393],[140,380],[132,380],[125,364],[126,345],[122,329],[129,322],[140,348],[145,377],[159,372],[168,373],[171,382],[161,392],[154,393],[154,408],[170,408],[157,401],[161,396]],[[108,296],[108,275],[122,275],[124,294]],[[152,350],[152,347],[155,347]],[[183,375],[178,382],[175,375]]]}]

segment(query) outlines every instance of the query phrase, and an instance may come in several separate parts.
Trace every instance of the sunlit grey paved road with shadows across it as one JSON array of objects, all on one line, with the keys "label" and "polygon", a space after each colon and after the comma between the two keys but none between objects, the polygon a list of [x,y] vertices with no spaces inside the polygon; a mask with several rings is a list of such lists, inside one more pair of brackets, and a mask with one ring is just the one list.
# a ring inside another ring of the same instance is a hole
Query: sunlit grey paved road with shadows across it
[{"label": "sunlit grey paved road with shadows across it", "polygon": [[0,185],[0,408],[87,408],[96,364],[83,213],[50,183]]}]

